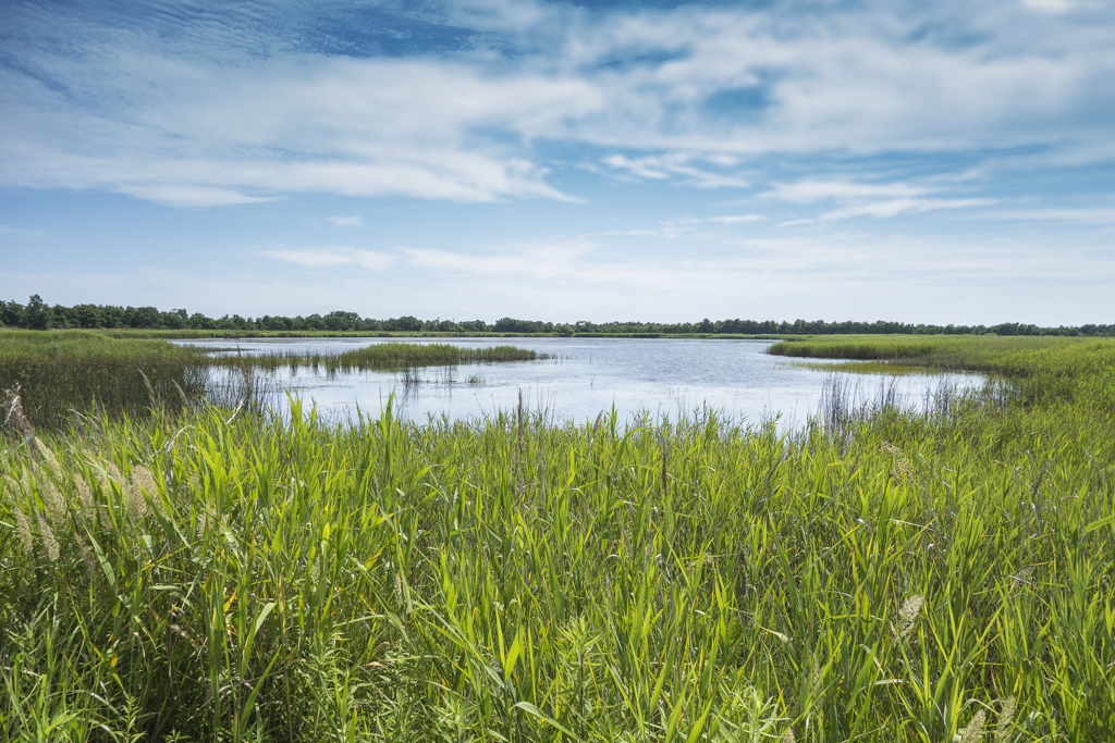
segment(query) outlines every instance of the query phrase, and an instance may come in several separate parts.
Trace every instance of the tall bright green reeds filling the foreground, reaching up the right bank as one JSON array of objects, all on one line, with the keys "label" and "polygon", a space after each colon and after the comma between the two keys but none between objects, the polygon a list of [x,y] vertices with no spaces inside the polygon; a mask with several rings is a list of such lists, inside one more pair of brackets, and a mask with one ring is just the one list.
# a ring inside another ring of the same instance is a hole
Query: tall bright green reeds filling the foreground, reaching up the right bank
[{"label": "tall bright green reeds filling the foreground, reaching up the right bank", "polygon": [[1113,740],[1115,343],[959,342],[1025,377],[928,411],[837,381],[788,436],[294,402],[30,440],[0,458],[0,730]]}]

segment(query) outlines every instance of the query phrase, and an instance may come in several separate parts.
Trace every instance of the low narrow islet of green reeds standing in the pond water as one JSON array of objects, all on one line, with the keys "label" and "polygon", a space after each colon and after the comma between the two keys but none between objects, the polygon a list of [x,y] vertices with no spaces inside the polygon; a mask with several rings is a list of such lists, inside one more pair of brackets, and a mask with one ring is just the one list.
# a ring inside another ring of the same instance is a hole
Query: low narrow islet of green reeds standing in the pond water
[{"label": "low narrow islet of green reeds standing in the pond water", "polygon": [[313,372],[348,373],[355,371],[404,370],[417,366],[452,366],[469,363],[500,363],[508,361],[536,361],[549,354],[496,345],[483,349],[449,345],[447,343],[374,343],[362,349],[341,353],[302,353],[272,351],[258,355],[213,356],[215,363],[291,372],[308,368]]}]

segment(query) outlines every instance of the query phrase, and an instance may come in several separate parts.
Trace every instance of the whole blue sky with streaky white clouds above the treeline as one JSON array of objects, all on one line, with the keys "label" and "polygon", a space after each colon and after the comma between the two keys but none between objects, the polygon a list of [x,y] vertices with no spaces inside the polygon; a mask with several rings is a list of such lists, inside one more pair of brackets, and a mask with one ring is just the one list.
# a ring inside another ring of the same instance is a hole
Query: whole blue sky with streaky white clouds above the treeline
[{"label": "whole blue sky with streaky white clouds above the treeline", "polygon": [[1106,0],[0,0],[0,299],[1115,322]]}]

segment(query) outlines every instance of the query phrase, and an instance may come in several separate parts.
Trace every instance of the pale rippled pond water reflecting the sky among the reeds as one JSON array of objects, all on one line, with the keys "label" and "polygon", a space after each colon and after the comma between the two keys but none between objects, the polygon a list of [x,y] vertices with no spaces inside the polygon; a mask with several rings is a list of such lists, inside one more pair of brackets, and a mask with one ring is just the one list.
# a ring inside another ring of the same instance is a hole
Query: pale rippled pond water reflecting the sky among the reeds
[{"label": "pale rippled pond water reflecting the sky among the reeds", "polygon": [[[176,341],[210,349],[239,346],[244,354],[268,352],[337,353],[376,343],[452,343],[462,346],[513,344],[546,353],[546,361],[427,366],[424,380],[404,388],[396,372],[357,372],[328,377],[301,368],[280,370],[274,381],[313,400],[319,410],[347,416],[377,413],[396,391],[400,417],[424,422],[429,417],[466,419],[508,411],[518,404],[541,410],[556,421],[594,420],[612,407],[630,422],[643,413],[677,420],[705,407],[735,420],[758,423],[777,418],[779,428],[805,422],[816,411],[831,372],[765,353],[772,341],[698,339],[205,339]],[[851,365],[851,364],[850,364]],[[978,374],[914,374],[892,379],[855,375],[859,394],[871,398],[895,384],[909,404],[942,384],[979,387]],[[406,394],[404,394],[406,392]]]}]

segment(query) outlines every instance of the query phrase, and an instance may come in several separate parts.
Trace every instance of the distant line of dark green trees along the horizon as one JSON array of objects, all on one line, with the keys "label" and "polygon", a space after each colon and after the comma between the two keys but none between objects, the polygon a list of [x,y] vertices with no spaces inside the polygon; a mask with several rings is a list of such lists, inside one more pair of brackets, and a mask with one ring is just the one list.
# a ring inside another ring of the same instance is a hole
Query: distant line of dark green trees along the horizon
[{"label": "distant line of dark green trees along the horizon", "polygon": [[411,315],[375,320],[361,317],[355,312],[336,311],[326,315],[283,317],[241,317],[224,315],[207,317],[198,312],[185,310],[163,312],[156,307],[120,307],[110,304],[75,304],[66,307],[50,306],[38,294],[26,305],[18,302],[0,301],[0,325],[32,330],[50,329],[132,329],[132,330],[227,330],[227,331],[331,331],[331,332],[399,332],[399,333],[556,333],[574,335],[583,333],[601,334],[648,334],[677,335],[686,333],[740,335],[826,335],[851,333],[904,333],[904,334],[949,334],[949,335],[1115,335],[1115,325],[1080,325],[1070,327],[1039,327],[1020,323],[999,325],[924,325],[901,322],[825,322],[824,320],[702,320],[696,323],[646,323],[608,322],[552,323],[537,320],[515,320],[503,317],[495,323],[483,320],[418,320]]}]

